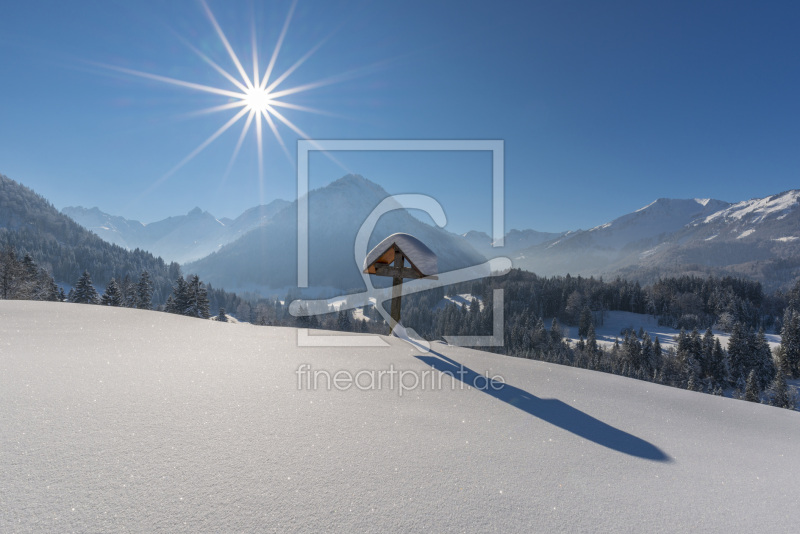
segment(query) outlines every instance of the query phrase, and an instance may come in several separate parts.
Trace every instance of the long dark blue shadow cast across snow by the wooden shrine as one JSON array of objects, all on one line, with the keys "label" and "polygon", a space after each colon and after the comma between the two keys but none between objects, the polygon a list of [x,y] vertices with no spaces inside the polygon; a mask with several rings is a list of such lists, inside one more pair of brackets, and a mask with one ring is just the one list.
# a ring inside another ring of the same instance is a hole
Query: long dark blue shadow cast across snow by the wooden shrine
[{"label": "long dark blue shadow cast across snow by the wooden shrine", "polygon": [[618,428],[595,419],[569,404],[558,399],[540,399],[518,387],[499,381],[493,381],[480,375],[468,367],[451,360],[447,356],[430,351],[434,356],[416,356],[434,369],[447,373],[455,380],[474,387],[487,395],[501,400],[515,408],[538,417],[543,421],[568,430],[598,445],[619,451],[630,456],[656,462],[671,462],[672,459],[661,449],[641,438],[628,434]]}]

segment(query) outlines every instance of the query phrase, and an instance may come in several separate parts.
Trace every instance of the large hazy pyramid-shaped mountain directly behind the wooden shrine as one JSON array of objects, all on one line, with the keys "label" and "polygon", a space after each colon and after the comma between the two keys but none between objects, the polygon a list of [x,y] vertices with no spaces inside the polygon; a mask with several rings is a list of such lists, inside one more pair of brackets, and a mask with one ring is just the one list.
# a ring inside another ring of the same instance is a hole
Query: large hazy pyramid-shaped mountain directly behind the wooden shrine
[{"label": "large hazy pyramid-shaped mountain directly behind the wooden shrine", "polygon": [[[347,175],[311,191],[309,205],[309,285],[363,287],[354,257],[356,234],[369,213],[389,193],[358,175]],[[373,247],[395,232],[418,237],[439,259],[440,271],[477,265],[484,258],[461,236],[428,225],[405,210],[381,217],[370,238]],[[218,252],[185,266],[203,280],[229,290],[262,290],[297,285],[297,203]]]}]

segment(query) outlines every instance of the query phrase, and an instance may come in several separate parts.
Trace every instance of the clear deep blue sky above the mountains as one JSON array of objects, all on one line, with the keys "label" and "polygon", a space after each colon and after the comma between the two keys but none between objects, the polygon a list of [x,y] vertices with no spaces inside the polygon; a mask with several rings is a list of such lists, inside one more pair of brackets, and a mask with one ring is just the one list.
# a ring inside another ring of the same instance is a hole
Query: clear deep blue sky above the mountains
[{"label": "clear deep blue sky above the mountains", "polygon": [[[208,5],[248,71],[255,27],[265,68],[291,3]],[[587,228],[658,197],[800,187],[798,28],[793,1],[300,0],[272,79],[326,39],[276,89],[344,78],[285,98],[333,114],[280,108],[308,136],[503,139],[506,229]],[[101,65],[234,89],[185,42],[237,75],[196,1],[0,4],[0,172],[143,222],[293,199],[268,129],[263,184],[253,128],[225,178],[244,119],[152,187],[236,110],[187,117],[230,98]],[[337,157],[312,159],[312,187],[357,172],[490,231],[486,154]]]}]

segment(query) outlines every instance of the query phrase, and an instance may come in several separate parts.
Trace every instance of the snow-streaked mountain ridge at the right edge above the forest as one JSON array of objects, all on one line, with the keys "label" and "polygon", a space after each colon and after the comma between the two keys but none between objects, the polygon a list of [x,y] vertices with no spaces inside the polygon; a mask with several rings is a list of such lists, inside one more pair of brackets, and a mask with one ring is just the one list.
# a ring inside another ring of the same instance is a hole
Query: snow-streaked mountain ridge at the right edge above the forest
[{"label": "snow-streaked mountain ridge at the right edge above the forest", "polygon": [[613,221],[519,251],[537,274],[732,274],[778,287],[800,274],[800,191],[730,204],[662,198]]}]

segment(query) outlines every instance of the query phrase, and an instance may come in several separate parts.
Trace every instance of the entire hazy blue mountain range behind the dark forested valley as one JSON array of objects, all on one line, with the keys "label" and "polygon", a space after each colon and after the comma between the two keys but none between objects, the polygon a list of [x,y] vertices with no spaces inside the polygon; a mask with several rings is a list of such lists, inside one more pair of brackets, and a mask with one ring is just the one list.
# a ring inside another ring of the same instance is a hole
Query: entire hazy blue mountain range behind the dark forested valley
[{"label": "entire hazy blue mountain range behind the dark forested valley", "polygon": [[[355,235],[388,196],[357,175],[309,194],[311,286],[363,286]],[[107,241],[182,260],[184,270],[214,285],[265,292],[296,285],[296,210],[296,202],[276,200],[236,219],[216,219],[196,208],[147,225],[97,208],[63,212]],[[503,247],[493,247],[485,233],[453,234],[397,210],[380,219],[370,246],[398,231],[427,243],[442,271],[508,256],[515,267],[543,276],[622,276],[643,283],[713,274],[744,276],[775,289],[800,276],[800,190],[738,203],[661,198],[589,230],[512,230]]]}]

